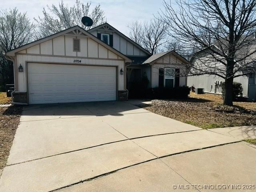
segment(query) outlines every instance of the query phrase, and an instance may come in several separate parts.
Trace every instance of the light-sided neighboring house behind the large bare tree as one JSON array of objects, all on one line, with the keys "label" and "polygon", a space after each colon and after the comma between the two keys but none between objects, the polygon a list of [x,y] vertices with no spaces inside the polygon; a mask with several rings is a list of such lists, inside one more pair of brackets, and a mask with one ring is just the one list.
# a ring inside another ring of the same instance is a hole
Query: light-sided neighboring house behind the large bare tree
[{"label": "light-sided neighboring house behind the large bare tree", "polygon": [[[191,64],[200,64],[204,60],[209,60],[211,54],[207,49],[196,52],[190,59]],[[223,64],[217,63],[216,66],[223,67]],[[221,84],[224,82],[224,78],[216,75],[199,75],[188,76],[188,86],[194,86],[195,88],[204,88],[204,92],[212,94],[222,94]],[[234,82],[239,82],[243,87],[243,96],[248,97],[249,101],[256,100],[256,74],[248,76],[239,76],[234,78]]]}]

